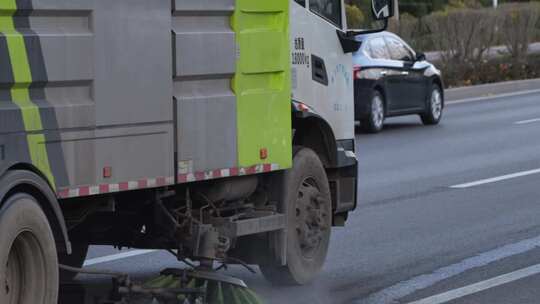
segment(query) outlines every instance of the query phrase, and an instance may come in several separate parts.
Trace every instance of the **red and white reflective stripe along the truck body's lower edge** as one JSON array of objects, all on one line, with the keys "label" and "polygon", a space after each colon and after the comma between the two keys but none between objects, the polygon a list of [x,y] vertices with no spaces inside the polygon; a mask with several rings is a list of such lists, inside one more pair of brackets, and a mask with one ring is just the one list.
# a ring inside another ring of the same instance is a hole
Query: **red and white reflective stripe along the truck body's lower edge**
[{"label": "red and white reflective stripe along the truck body's lower edge", "polygon": [[[210,180],[222,177],[251,175],[279,170],[277,164],[260,164],[244,168],[218,169],[206,172],[194,172],[188,174],[179,174],[178,183],[189,183],[195,181]],[[93,186],[80,186],[76,188],[63,188],[58,191],[59,198],[73,198],[81,196],[90,196],[97,194],[115,193],[128,190],[156,188],[174,185],[174,177],[157,177],[140,179],[137,181],[120,182],[115,184],[100,184]]]}]

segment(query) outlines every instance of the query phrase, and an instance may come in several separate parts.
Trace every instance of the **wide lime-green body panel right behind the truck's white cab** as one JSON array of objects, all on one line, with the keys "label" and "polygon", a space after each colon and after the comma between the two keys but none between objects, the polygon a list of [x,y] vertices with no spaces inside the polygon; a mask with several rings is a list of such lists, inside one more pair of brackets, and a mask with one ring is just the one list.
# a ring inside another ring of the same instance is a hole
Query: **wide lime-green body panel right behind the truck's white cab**
[{"label": "wide lime-green body panel right behind the truck's white cab", "polygon": [[[233,16],[239,58],[238,162],[292,165],[289,1],[238,0]],[[261,160],[261,149],[268,157]]]}]

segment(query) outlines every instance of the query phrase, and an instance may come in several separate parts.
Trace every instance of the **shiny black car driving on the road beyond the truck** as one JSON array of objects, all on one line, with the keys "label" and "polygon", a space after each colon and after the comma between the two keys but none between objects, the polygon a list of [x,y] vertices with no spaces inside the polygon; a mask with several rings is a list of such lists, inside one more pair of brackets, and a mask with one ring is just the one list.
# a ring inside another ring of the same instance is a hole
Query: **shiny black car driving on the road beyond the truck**
[{"label": "shiny black car driving on the road beyond the truck", "polygon": [[367,132],[382,130],[386,117],[419,114],[438,124],[444,109],[441,72],[389,32],[359,35],[354,54],[355,119]]}]

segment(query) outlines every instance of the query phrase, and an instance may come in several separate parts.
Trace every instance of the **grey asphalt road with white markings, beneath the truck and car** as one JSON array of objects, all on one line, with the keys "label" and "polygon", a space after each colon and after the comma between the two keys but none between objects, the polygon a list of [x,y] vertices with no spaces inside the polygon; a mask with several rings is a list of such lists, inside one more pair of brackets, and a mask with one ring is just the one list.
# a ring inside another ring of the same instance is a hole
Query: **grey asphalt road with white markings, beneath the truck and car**
[{"label": "grey asphalt road with white markings, beneath the truck and car", "polygon": [[[411,116],[388,120],[381,134],[357,136],[359,207],[345,228],[334,229],[316,282],[273,287],[240,267],[228,273],[272,304],[537,303],[540,93],[445,110],[439,126]],[[89,268],[144,279],[178,266],[162,252],[95,260],[115,253],[93,247]],[[87,303],[110,282],[77,281]],[[63,290],[63,303],[81,303],[66,298],[79,292],[72,288]]]}]

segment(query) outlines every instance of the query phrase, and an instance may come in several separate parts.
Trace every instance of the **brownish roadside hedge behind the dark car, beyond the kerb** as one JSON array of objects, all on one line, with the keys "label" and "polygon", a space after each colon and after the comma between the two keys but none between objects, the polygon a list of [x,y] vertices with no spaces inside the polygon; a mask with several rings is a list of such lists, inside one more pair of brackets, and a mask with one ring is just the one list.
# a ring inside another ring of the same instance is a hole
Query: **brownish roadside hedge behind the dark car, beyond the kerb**
[{"label": "brownish roadside hedge behind the dark car, beyond the kerb", "polygon": [[[540,77],[540,56],[528,55],[529,44],[540,41],[540,3],[493,9],[484,2],[451,0],[418,19],[402,14],[390,30],[417,50],[440,51],[437,65],[450,86]],[[508,52],[494,58],[490,49],[501,45]]]}]

